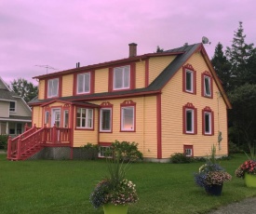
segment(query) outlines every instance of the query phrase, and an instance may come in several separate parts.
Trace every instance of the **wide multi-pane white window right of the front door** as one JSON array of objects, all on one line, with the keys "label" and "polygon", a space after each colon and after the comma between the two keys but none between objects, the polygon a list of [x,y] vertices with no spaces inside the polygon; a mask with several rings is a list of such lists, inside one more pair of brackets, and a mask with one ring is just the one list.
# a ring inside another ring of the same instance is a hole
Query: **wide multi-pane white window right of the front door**
[{"label": "wide multi-pane white window right of the front door", "polygon": [[93,127],[93,110],[86,108],[76,108],[76,128]]}]

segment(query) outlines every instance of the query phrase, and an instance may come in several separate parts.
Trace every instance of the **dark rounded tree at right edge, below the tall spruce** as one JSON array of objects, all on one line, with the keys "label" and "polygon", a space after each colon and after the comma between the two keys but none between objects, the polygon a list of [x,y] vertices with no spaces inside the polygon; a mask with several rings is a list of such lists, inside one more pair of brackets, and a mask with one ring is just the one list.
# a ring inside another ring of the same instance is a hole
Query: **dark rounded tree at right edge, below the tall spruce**
[{"label": "dark rounded tree at right edge, below the tall spruce", "polygon": [[232,136],[236,144],[256,143],[256,85],[245,84],[228,94],[233,105],[230,111]]}]

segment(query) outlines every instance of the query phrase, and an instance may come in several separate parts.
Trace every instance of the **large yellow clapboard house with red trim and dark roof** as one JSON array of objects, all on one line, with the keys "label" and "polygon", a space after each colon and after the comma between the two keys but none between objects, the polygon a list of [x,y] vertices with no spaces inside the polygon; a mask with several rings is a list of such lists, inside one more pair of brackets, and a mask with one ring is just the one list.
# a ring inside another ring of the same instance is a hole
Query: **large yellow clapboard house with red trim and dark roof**
[{"label": "large yellow clapboard house with red trim and dark roof", "polygon": [[205,156],[212,144],[217,155],[228,154],[231,104],[203,44],[141,56],[129,44],[127,59],[34,78],[36,139],[69,158],[88,142],[104,156],[115,140],[135,141],[145,158],[158,161],[174,153]]}]

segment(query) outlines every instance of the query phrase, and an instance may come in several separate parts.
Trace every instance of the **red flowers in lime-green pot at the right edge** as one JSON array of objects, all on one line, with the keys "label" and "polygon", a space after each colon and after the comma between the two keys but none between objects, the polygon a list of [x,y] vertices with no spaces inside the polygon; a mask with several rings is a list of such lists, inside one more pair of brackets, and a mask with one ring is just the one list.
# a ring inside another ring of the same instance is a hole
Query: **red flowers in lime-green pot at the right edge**
[{"label": "red flowers in lime-green pot at the right edge", "polygon": [[249,147],[249,153],[248,160],[236,169],[236,177],[244,179],[248,187],[256,187],[256,148]]}]

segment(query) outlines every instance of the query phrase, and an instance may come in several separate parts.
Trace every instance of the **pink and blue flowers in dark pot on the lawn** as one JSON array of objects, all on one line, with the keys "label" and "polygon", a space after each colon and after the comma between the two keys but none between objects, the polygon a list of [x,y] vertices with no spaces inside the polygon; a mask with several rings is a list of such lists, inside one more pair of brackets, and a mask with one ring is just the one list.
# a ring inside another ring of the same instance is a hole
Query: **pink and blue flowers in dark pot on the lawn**
[{"label": "pink and blue flowers in dark pot on the lawn", "polygon": [[199,172],[195,173],[195,183],[203,187],[208,194],[221,195],[222,185],[225,181],[230,181],[232,176],[223,167],[216,163],[216,147],[211,148],[211,157],[207,163],[199,167]]}]

